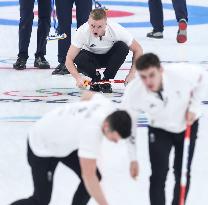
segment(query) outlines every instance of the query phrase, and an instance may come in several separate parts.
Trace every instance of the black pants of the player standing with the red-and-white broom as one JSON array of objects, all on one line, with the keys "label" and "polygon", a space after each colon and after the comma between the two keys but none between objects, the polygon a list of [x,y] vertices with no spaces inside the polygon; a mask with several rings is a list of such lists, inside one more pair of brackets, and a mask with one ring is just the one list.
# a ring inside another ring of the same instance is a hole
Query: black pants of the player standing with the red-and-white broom
[{"label": "black pants of the player standing with the red-and-white broom", "polygon": [[[188,157],[187,192],[190,186],[191,163],[197,138],[198,121],[191,128],[191,142]],[[171,148],[175,148],[174,175],[175,189],[172,205],[179,204],[180,179],[185,132],[175,134],[162,129],[149,127],[149,154],[152,168],[150,177],[151,205],[165,205],[165,181],[169,170],[169,155]]]}]

